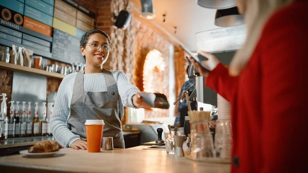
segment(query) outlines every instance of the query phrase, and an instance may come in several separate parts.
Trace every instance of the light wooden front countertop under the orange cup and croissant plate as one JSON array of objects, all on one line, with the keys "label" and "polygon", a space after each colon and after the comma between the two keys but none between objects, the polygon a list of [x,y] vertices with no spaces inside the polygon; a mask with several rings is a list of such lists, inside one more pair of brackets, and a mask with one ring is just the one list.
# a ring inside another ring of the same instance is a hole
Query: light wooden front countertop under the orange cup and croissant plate
[{"label": "light wooden front countertop under the orange cup and croissant plate", "polygon": [[114,149],[89,153],[63,148],[52,158],[27,158],[24,155],[0,157],[1,172],[207,172],[229,173],[229,164],[196,162],[175,158],[165,150]]}]

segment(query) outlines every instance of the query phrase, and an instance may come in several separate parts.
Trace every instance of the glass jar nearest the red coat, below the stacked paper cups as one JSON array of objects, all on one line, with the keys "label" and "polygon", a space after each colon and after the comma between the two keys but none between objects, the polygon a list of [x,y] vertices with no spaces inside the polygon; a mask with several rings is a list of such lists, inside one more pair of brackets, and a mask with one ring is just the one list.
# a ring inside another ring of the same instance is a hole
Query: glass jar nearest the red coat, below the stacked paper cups
[{"label": "glass jar nearest the red coat, below the stacked paper cups", "polygon": [[215,156],[231,159],[232,131],[230,120],[218,120],[215,128]]}]

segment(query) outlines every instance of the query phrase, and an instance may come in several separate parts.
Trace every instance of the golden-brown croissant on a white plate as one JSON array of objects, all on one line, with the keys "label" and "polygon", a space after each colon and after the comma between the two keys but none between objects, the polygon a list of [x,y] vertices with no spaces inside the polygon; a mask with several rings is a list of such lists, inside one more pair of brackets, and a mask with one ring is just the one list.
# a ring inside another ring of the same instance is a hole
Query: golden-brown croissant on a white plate
[{"label": "golden-brown croissant on a white plate", "polygon": [[59,150],[61,145],[55,141],[42,141],[34,144],[28,152],[52,152]]}]

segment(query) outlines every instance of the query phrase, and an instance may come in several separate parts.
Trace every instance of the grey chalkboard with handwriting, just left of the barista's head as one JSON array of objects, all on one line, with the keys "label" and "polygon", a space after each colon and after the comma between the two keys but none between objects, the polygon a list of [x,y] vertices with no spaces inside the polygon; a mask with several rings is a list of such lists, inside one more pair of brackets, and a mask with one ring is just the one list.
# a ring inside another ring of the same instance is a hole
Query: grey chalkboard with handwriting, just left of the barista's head
[{"label": "grey chalkboard with handwriting, just left of the barista's head", "polygon": [[56,61],[69,64],[84,63],[80,51],[80,39],[57,29],[53,29],[51,53],[51,59]]}]

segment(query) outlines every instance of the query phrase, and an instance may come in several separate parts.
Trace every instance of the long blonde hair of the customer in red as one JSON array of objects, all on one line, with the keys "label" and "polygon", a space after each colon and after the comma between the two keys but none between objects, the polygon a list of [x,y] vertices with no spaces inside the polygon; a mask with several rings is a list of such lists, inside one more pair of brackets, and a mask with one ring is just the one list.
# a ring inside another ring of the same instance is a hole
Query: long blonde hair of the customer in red
[{"label": "long blonde hair of the customer in red", "polygon": [[233,57],[229,74],[237,76],[246,67],[259,41],[263,26],[268,18],[279,8],[291,4],[295,0],[249,0],[245,21],[247,37],[244,45]]}]

